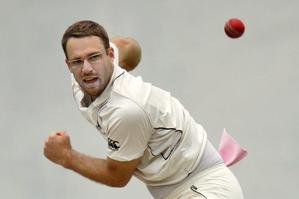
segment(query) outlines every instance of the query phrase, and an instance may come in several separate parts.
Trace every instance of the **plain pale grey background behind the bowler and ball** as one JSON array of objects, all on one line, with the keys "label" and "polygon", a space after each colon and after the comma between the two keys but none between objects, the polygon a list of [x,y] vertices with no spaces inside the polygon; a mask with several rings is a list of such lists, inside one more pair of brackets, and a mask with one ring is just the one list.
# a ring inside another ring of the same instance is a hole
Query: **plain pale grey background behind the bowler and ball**
[{"label": "plain pale grey background behind the bowler and ball", "polygon": [[[133,178],[114,189],[42,155],[49,132],[103,157],[106,143],[76,110],[60,39],[91,19],[142,45],[134,75],[170,91],[217,147],[222,129],[247,150],[232,167],[246,198],[297,198],[299,1],[0,1],[0,198],[151,198]],[[233,40],[224,22],[246,32]]]}]

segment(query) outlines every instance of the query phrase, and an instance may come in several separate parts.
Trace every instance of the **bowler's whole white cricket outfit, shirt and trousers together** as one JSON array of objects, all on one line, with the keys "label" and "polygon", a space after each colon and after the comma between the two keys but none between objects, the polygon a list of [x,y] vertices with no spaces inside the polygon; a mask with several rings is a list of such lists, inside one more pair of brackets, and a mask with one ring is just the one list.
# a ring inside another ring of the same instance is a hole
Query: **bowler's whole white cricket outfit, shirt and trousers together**
[{"label": "bowler's whole white cricket outfit, shirt and trousers together", "polygon": [[[107,156],[118,161],[142,157],[134,175],[145,182],[155,198],[198,197],[192,186],[200,187],[201,194],[211,198],[214,190],[222,193],[223,187],[229,188],[223,192],[226,198],[242,199],[231,197],[232,192],[240,196],[242,191],[207,141],[203,127],[169,92],[120,68],[118,50],[110,45],[115,54],[113,75],[95,101],[84,95],[72,76],[77,107],[108,141]],[[211,179],[215,184],[208,183]]]}]

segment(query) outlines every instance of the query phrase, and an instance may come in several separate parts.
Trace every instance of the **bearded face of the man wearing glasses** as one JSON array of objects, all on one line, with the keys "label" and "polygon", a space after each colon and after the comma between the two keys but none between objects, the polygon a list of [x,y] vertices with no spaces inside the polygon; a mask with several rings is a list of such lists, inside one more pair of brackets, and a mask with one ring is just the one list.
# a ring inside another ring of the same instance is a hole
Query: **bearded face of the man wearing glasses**
[{"label": "bearded face of the man wearing glasses", "polygon": [[114,52],[112,48],[107,51],[96,36],[72,37],[66,45],[69,70],[93,99],[104,91],[113,73]]}]

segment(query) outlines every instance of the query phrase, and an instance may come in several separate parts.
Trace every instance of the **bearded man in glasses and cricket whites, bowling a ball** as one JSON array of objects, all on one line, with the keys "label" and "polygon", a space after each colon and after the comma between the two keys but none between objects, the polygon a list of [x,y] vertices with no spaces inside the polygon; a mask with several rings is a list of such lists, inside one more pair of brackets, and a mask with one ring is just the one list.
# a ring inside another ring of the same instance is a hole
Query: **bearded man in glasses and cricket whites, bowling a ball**
[{"label": "bearded man in glasses and cricket whites, bowling a ball", "polygon": [[75,151],[68,134],[58,131],[45,142],[49,160],[112,187],[134,175],[154,198],[243,198],[203,127],[169,92],[119,67],[118,49],[110,47],[102,26],[74,23],[62,47],[77,106],[107,140],[107,157]]}]

